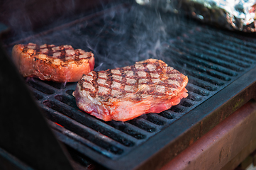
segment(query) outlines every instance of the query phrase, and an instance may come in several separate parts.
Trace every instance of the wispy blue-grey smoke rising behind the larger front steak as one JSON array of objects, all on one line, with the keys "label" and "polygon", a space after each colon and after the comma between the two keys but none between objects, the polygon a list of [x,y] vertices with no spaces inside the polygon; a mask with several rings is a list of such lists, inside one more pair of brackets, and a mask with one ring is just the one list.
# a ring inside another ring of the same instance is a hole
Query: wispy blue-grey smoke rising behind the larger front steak
[{"label": "wispy blue-grey smoke rising behind the larger front steak", "polygon": [[148,58],[165,61],[169,35],[177,36],[176,24],[179,25],[179,16],[133,4],[106,12],[101,21],[89,24],[84,30],[92,33],[84,40],[97,57],[96,63],[103,63],[102,69],[124,67]]}]

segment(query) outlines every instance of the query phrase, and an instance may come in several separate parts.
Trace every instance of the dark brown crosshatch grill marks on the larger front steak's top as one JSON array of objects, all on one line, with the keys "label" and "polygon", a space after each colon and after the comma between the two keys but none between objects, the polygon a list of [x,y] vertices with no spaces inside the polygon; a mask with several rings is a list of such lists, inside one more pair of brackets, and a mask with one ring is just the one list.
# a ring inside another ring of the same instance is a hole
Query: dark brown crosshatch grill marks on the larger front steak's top
[{"label": "dark brown crosshatch grill marks on the larger front steak's top", "polygon": [[[92,93],[92,97],[97,96],[98,98],[101,98],[101,101],[108,101],[109,98],[113,98],[113,96],[111,96],[112,94],[112,90],[116,90],[116,91],[120,91],[121,95],[126,95],[128,93],[128,91],[125,90],[125,86],[134,86],[135,89],[138,89],[138,80],[141,78],[145,78],[148,80],[148,82],[145,83],[140,83],[140,84],[146,84],[148,85],[148,89],[144,89],[142,91],[139,91],[137,94],[137,98],[133,98],[137,101],[139,101],[141,99],[140,95],[146,94],[146,95],[150,95],[150,96],[154,96],[156,98],[160,98],[163,94],[166,94],[167,92],[173,93],[174,91],[172,91],[171,89],[179,89],[182,86],[182,82],[184,80],[184,77],[182,76],[182,74],[175,70],[175,69],[171,69],[170,67],[165,66],[165,64],[162,63],[150,63],[150,64],[154,64],[156,66],[156,69],[152,72],[150,72],[150,70],[148,69],[147,63],[140,63],[143,64],[144,69],[136,69],[135,65],[130,66],[129,69],[123,69],[123,68],[116,68],[121,72],[120,74],[113,74],[111,72],[111,69],[108,69],[106,71],[101,71],[101,73],[106,73],[106,78],[99,78],[99,72],[93,72],[93,76],[92,79],[93,81],[91,82],[92,86],[94,86],[94,88],[96,89],[96,91],[94,91]],[[162,67],[161,67],[162,66]],[[132,77],[127,77],[127,74],[125,74],[125,71],[133,71],[133,76]],[[138,76],[138,72],[145,72],[146,76],[145,77],[139,77]],[[153,83],[152,82],[152,77],[150,75],[150,73],[155,73],[155,74],[159,74],[160,77],[158,77],[158,79],[160,79],[160,82],[158,83]],[[166,74],[177,74],[177,77],[167,77]],[[117,79],[113,79],[113,75],[116,76],[121,76],[121,81],[118,81]],[[127,82],[126,78],[130,78],[130,79],[135,79],[135,84],[129,84]],[[177,79],[177,78],[181,78],[181,79]],[[105,84],[98,84],[97,81],[98,79],[106,79],[106,83]],[[178,82],[179,86],[177,86],[176,84],[168,84],[167,80],[175,80]],[[84,80],[86,82],[89,83],[89,81]],[[116,87],[112,87],[113,81],[116,81],[118,83],[121,84],[121,88],[116,88]],[[82,83],[80,83],[82,84]],[[152,84],[155,84],[152,86]],[[81,86],[81,85],[80,85]],[[99,93],[99,86],[105,87],[107,89],[109,89],[108,94],[100,94]],[[165,86],[165,89],[162,92],[157,91],[157,86]],[[89,89],[89,91],[91,91],[91,89]],[[130,92],[129,92],[130,93]],[[133,94],[136,94],[136,91],[133,92]],[[120,97],[120,96],[116,96],[116,97]],[[115,97],[115,98],[116,98]]]}]

